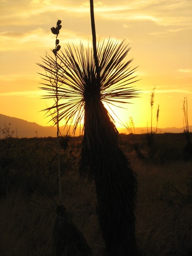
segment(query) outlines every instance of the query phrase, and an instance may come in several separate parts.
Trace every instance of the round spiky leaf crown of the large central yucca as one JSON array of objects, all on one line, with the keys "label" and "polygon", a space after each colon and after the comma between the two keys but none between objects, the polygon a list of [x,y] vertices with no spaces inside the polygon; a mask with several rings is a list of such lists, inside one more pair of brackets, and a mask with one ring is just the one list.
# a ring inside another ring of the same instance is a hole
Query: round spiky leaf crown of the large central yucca
[{"label": "round spiky leaf crown of the large central yucca", "polygon": [[132,59],[126,60],[129,50],[124,41],[119,43],[109,39],[107,43],[98,43],[99,84],[96,82],[96,67],[91,47],[84,49],[82,44],[79,48],[68,45],[61,54],[57,54],[60,63],[56,63],[49,55],[42,58],[43,64],[38,65],[46,73],[40,74],[45,80],[40,88],[48,92],[43,98],[55,98],[58,69],[58,119],[56,104],[44,109],[53,123],[57,124],[57,121],[61,120],[65,120],[65,124],[74,123],[75,132],[77,124],[83,119],[86,100],[92,100],[94,97],[108,105],[119,106],[128,103],[127,99],[136,97],[137,90],[130,87],[135,81],[135,76],[132,76],[135,68],[130,67]]}]

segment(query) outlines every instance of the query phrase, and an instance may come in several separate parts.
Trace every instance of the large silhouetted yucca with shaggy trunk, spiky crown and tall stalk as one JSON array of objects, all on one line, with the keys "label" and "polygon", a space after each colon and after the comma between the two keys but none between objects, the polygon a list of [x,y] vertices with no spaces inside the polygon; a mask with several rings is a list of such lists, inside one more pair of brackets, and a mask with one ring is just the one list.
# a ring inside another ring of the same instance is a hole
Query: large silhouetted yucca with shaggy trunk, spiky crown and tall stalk
[{"label": "large silhouetted yucca with shaggy trunk, spiky crown and tall stalk", "polygon": [[[84,137],[79,159],[82,178],[94,179],[97,194],[97,215],[109,256],[136,255],[135,199],[137,182],[130,162],[119,147],[115,121],[104,106],[122,105],[138,95],[131,86],[135,68],[127,60],[130,47],[125,41],[108,39],[96,45],[93,0],[90,0],[93,47],[68,44],[59,53],[59,64],[47,55],[41,89],[54,97],[50,84],[58,66],[58,110],[55,105],[45,109],[53,113],[54,123],[72,120],[75,133],[84,119]],[[62,102],[61,102],[62,101]],[[56,114],[56,115],[55,115]],[[57,116],[58,115],[58,116]]]}]

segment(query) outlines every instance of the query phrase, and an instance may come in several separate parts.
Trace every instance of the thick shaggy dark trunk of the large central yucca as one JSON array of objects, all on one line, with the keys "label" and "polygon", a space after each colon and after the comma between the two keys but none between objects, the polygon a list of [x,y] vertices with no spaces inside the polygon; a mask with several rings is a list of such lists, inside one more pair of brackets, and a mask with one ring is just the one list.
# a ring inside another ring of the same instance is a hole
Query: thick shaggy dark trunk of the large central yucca
[{"label": "thick shaggy dark trunk of the large central yucca", "polygon": [[97,215],[109,256],[136,255],[137,183],[119,134],[99,98],[85,103],[80,173],[95,180]]}]

